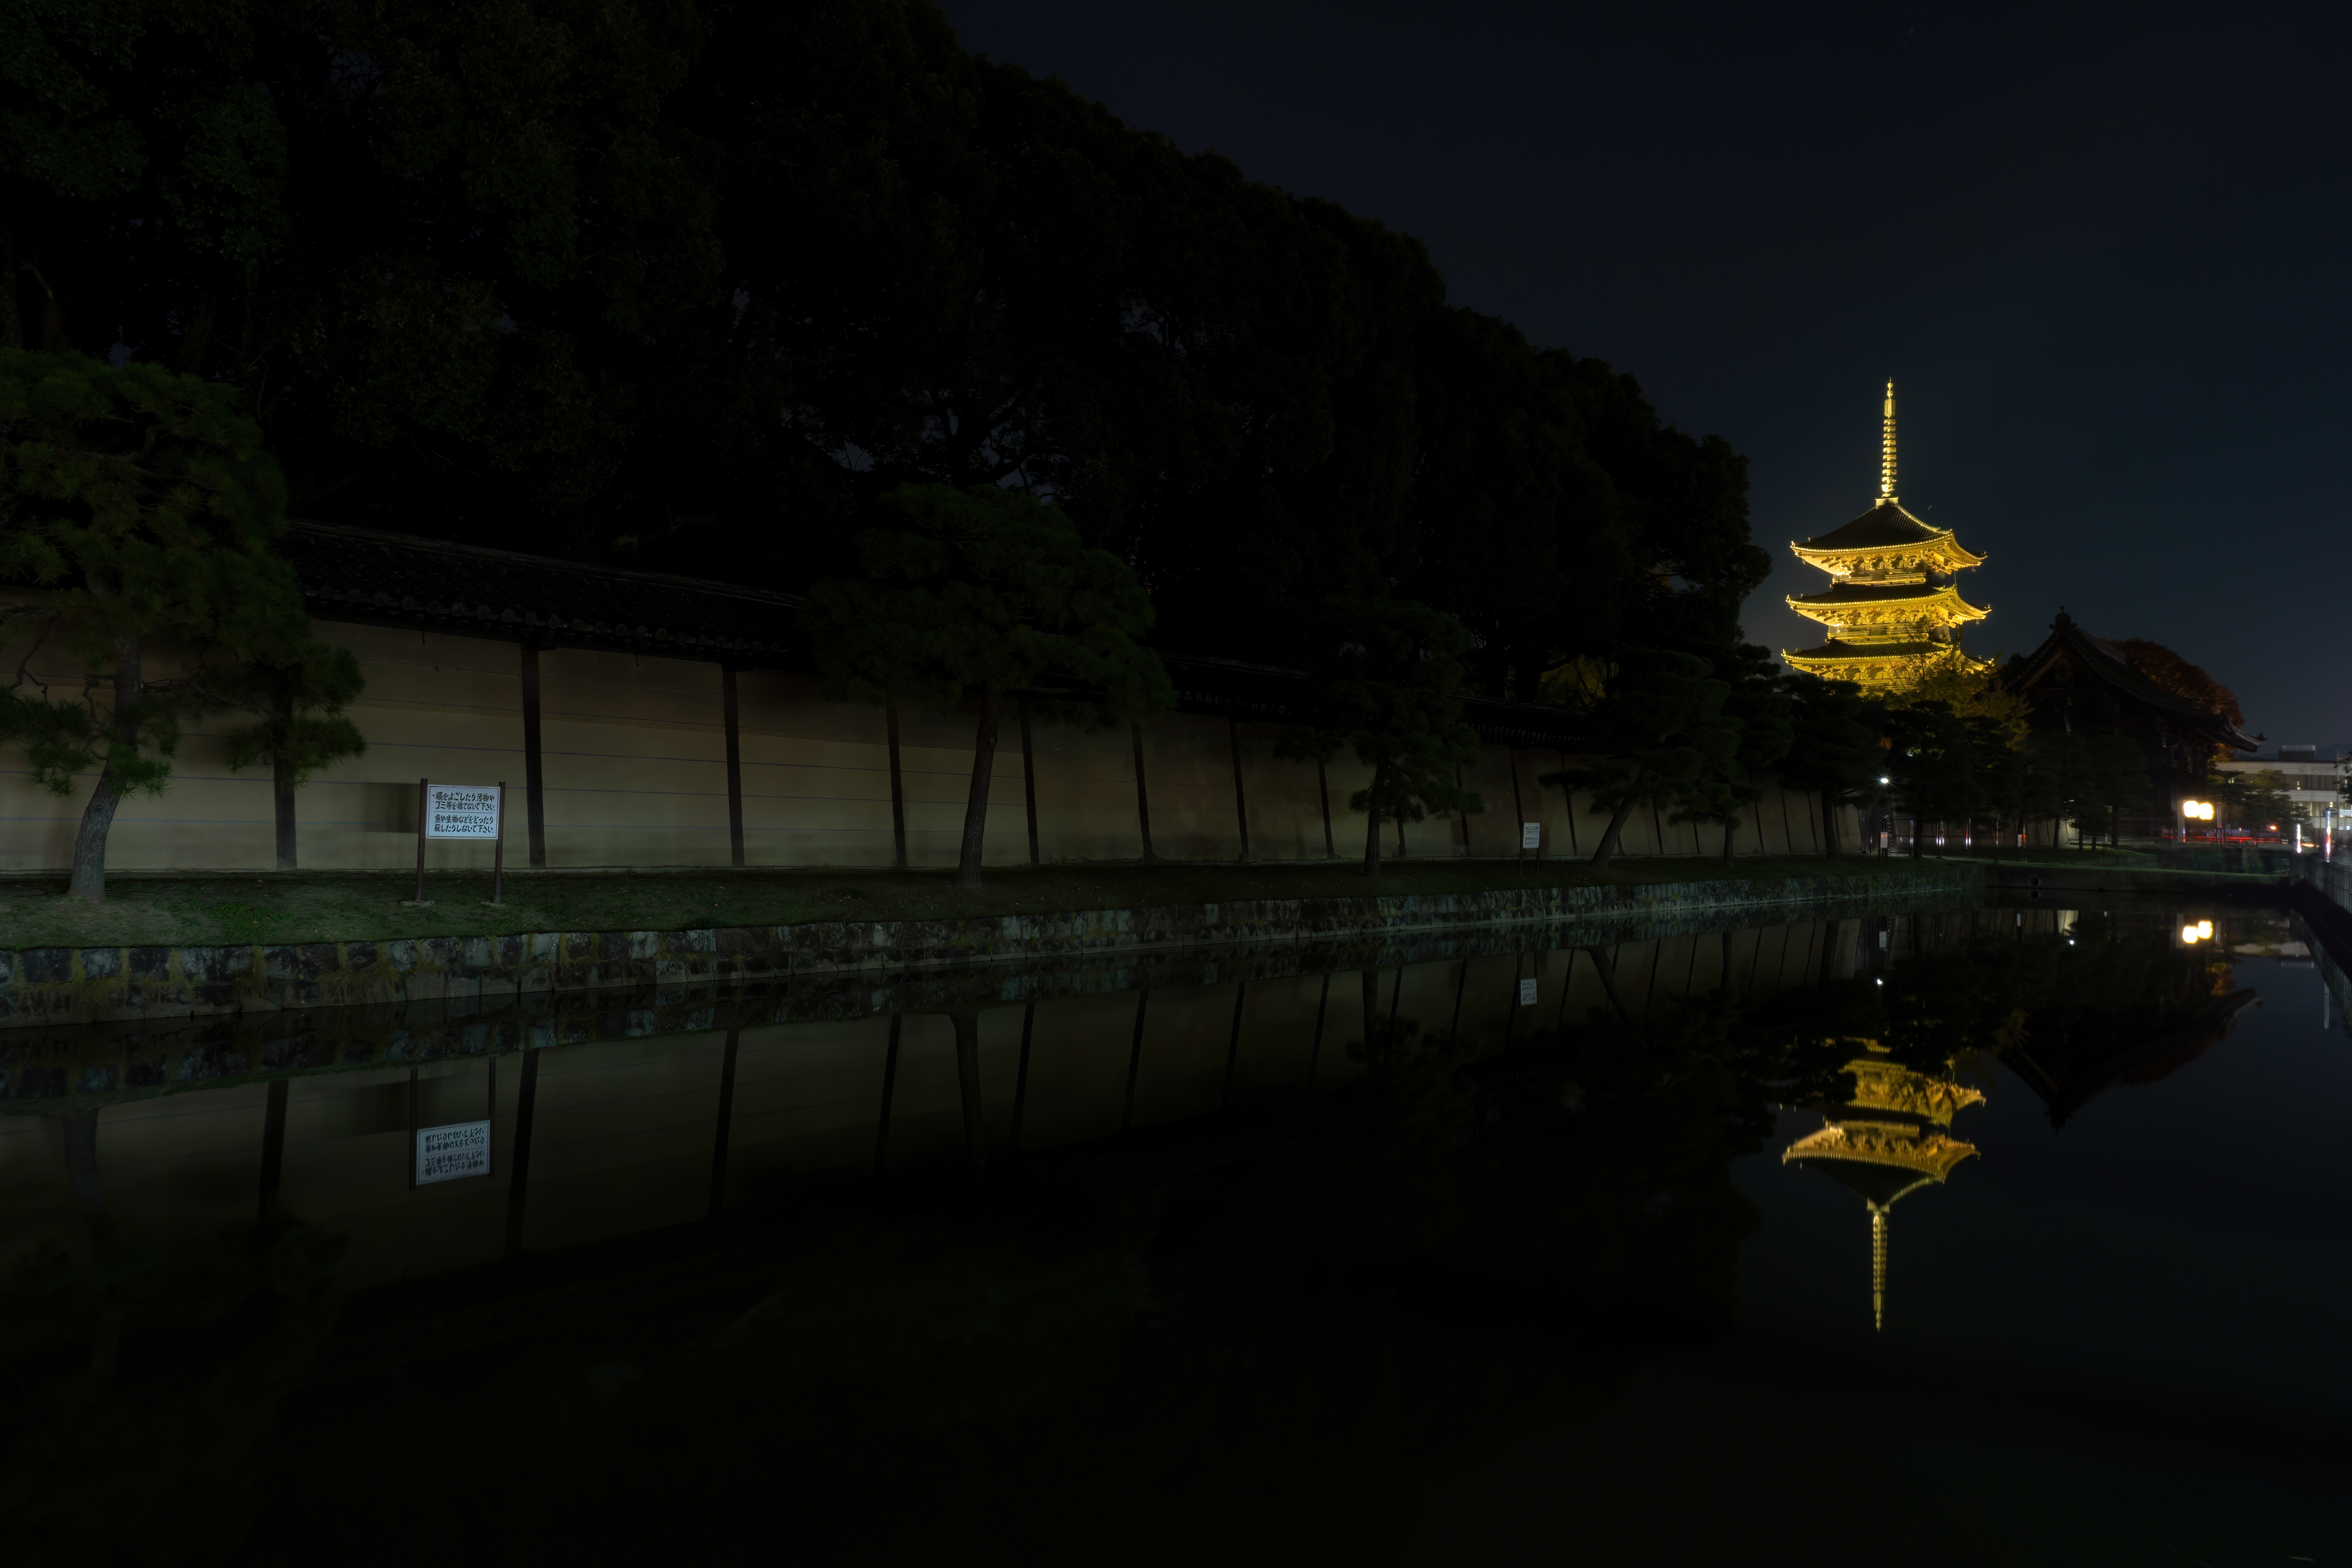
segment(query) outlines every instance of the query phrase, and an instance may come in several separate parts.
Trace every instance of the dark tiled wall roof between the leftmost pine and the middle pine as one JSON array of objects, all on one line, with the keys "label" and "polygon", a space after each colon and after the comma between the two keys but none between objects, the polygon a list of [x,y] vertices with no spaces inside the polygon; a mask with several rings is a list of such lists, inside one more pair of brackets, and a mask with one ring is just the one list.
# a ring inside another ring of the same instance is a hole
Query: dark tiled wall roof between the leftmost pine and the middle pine
[{"label": "dark tiled wall roof between the leftmost pine and the middle pine", "polygon": [[746,665],[797,663],[802,602],[786,592],[332,522],[289,524],[278,552],[294,564],[303,607],[318,621]]}]

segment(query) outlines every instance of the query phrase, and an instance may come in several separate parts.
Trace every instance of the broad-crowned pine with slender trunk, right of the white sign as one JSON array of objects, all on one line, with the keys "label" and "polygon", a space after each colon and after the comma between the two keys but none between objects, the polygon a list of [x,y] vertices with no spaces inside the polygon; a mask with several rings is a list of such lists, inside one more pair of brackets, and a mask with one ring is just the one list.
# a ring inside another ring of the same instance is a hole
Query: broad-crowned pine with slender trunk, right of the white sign
[{"label": "broad-crowned pine with slender trunk, right of the white sign", "polygon": [[1152,604],[1127,562],[1028,491],[906,484],[882,505],[889,522],[854,541],[863,576],[816,583],[804,625],[835,698],[978,708],[955,865],[955,886],[976,889],[1007,693],[1044,686],[1049,717],[1087,726],[1171,708],[1167,670],[1136,642]]}]

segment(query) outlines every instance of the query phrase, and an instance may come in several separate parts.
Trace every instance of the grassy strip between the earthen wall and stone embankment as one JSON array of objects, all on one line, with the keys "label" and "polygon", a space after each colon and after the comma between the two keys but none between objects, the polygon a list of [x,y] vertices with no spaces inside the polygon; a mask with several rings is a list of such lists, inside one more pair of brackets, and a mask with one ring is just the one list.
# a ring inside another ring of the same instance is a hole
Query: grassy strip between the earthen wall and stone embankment
[{"label": "grassy strip between the earthen wall and stone embankment", "polygon": [[1752,856],[1731,867],[1719,858],[1644,858],[1618,860],[1597,875],[1581,860],[1390,860],[1378,882],[1367,882],[1352,863],[1021,865],[990,870],[988,886],[976,893],[955,891],[943,870],[508,872],[503,907],[485,903],[487,872],[428,877],[428,907],[400,903],[414,891],[414,872],[115,875],[103,905],[66,898],[64,877],[9,877],[0,879],[0,947],[350,943],[510,931],[790,926],[816,919],[964,919],[1237,898],[1907,875],[1910,865],[1863,856]]}]

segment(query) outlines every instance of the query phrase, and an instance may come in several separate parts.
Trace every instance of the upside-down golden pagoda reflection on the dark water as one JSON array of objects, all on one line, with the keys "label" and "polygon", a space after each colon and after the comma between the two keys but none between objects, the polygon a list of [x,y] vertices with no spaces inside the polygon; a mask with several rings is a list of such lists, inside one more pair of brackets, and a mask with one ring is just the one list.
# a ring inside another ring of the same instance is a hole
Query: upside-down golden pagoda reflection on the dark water
[{"label": "upside-down golden pagoda reflection on the dark water", "polygon": [[1780,1161],[1799,1161],[1863,1199],[1870,1211],[1870,1319],[1886,1328],[1886,1218],[1898,1199],[1943,1185],[1976,1154],[1973,1143],[1952,1138],[1952,1117],[1983,1105],[1985,1095],[1950,1074],[1912,1072],[1886,1060],[1884,1046],[1865,1044],[1872,1056],[1846,1063],[1853,1098],[1823,1107],[1825,1126],[1783,1150]]}]

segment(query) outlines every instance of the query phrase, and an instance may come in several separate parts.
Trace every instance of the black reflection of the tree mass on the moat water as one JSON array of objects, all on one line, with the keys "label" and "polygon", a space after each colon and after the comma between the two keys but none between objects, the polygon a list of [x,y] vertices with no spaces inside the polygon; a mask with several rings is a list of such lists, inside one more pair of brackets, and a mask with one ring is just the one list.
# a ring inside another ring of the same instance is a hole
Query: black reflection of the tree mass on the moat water
[{"label": "black reflection of the tree mass on the moat water", "polygon": [[362,1302],[282,1410],[332,1312],[315,1237],[49,1255],[9,1295],[9,1345],[49,1347],[9,1361],[12,1528],[172,1561],[256,1519],[254,1556],[315,1556],[397,1479],[365,1528],[402,1549],[757,1526],[884,1561],[1381,1561],[1432,1479],[1731,1326],[1757,1227],[1731,1161],[1776,1105],[1851,1100],[1851,1041],[1933,1072],[2096,1056],[2211,1004],[2204,954],[2159,947],[1985,940],[1503,1053],[1376,1006],[1345,1091],[1030,1154],[985,1213],[967,1175]]}]

